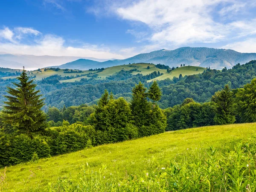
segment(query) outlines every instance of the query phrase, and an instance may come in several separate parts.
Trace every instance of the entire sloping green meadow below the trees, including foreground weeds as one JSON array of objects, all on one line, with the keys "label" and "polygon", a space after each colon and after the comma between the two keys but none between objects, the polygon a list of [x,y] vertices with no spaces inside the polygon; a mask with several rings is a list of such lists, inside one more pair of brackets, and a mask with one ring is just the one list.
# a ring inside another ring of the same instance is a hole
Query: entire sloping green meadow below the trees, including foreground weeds
[{"label": "entire sloping green meadow below the trees, including foreground weeds", "polygon": [[7,167],[3,189],[253,192],[255,134],[256,123],[233,124],[106,144]]}]

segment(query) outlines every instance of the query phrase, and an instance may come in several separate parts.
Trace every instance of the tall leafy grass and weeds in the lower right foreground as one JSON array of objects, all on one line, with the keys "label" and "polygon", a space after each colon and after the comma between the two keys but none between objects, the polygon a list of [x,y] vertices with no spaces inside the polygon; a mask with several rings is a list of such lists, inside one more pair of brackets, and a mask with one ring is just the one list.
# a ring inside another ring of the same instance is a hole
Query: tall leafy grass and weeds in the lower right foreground
[{"label": "tall leafy grass and weeds in the lower right foreground", "polygon": [[235,141],[218,150],[194,149],[178,155],[168,167],[145,169],[141,175],[122,179],[112,175],[105,164],[98,171],[83,164],[79,178],[60,178],[57,184],[48,184],[48,192],[58,191],[255,192],[256,139]]}]

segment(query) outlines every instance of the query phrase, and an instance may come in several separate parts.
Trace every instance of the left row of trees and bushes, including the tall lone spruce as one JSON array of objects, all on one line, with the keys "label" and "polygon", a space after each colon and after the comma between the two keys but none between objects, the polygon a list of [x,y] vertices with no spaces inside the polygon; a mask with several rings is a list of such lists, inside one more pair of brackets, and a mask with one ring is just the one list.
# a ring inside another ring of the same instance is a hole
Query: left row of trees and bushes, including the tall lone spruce
[{"label": "left row of trees and bushes, including the tall lone spruce", "polygon": [[[35,89],[33,79],[29,80],[25,70],[17,79],[19,82],[13,83],[15,88],[8,87],[9,94],[5,96],[8,101],[0,113],[2,166],[165,131],[166,116],[156,103],[162,96],[157,82],[148,90],[141,82],[135,85],[131,103],[122,97],[114,99],[113,94],[105,90],[90,112],[87,106],[81,106],[87,107],[83,115],[78,115],[81,117],[87,113],[83,122],[70,125],[70,122],[63,121],[60,127],[50,127],[51,122],[47,123],[47,115],[41,110],[44,99],[40,90]],[[69,109],[62,110],[62,115],[69,118]],[[55,112],[52,109],[49,118],[58,116]]]}]

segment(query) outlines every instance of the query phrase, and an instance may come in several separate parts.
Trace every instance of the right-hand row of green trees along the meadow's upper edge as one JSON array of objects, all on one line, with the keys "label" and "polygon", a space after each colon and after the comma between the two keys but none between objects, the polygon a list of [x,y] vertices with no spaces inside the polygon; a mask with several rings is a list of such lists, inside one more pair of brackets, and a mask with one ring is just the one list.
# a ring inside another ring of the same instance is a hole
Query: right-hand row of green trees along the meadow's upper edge
[{"label": "right-hand row of green trees along the meadow's upper edge", "polygon": [[210,102],[197,103],[186,98],[182,104],[164,110],[166,130],[190,127],[256,122],[256,79],[244,88],[231,90],[225,85],[215,92]]}]

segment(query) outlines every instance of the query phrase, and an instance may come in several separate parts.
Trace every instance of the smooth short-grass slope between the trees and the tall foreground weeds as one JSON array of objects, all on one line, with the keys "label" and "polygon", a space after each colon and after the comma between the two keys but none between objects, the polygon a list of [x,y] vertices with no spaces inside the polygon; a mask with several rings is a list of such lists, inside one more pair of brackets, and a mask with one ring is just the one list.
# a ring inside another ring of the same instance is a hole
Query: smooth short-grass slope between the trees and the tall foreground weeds
[{"label": "smooth short-grass slope between the trees and the tall foreground weeds", "polygon": [[[93,171],[99,171],[102,164],[108,174],[122,179],[126,174],[145,174],[149,169],[169,166],[177,154],[188,150],[218,148],[233,139],[246,139],[256,134],[256,123],[210,126],[166,132],[156,136],[108,144],[81,150],[66,155],[41,159],[38,163],[25,163],[7,168],[6,191],[27,191],[46,188],[47,183],[56,183],[58,177],[76,178],[82,164],[88,162]],[[196,149],[197,148],[197,149]],[[188,150],[187,150],[188,149]],[[36,177],[30,177],[32,170]],[[2,172],[3,169],[0,170]]]}]

